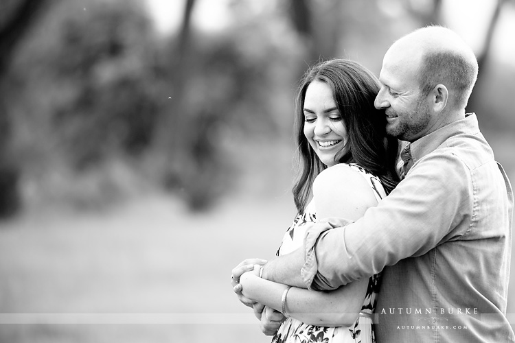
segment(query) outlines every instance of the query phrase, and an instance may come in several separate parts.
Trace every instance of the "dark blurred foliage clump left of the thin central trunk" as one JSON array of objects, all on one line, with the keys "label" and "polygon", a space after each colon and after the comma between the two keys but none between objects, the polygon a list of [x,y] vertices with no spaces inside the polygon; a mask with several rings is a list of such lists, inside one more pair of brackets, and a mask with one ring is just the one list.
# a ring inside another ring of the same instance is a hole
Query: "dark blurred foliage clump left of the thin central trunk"
[{"label": "dark blurred foliage clump left of the thin central trunk", "polygon": [[92,8],[65,20],[56,38],[60,49],[41,62],[73,90],[50,113],[73,167],[97,165],[113,149],[141,152],[157,112],[146,18],[130,6]]}]

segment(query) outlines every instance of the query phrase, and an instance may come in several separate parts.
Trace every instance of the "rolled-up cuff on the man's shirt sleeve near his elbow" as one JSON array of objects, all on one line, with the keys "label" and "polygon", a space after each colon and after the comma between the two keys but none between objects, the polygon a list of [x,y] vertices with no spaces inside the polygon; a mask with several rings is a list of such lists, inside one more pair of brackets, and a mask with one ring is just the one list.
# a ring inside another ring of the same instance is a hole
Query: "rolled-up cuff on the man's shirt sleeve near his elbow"
[{"label": "rolled-up cuff on the man's shirt sleeve near his elbow", "polygon": [[344,218],[328,218],[320,222],[308,222],[306,236],[304,237],[304,265],[301,268],[301,277],[308,289],[333,289],[327,279],[318,272],[317,253],[315,247],[325,232],[337,227],[352,223]]}]

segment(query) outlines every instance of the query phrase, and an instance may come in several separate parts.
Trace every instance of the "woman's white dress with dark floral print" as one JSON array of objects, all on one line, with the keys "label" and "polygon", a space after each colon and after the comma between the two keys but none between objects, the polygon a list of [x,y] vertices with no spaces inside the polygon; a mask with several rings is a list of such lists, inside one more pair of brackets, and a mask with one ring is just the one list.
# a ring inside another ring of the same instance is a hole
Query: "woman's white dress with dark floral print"
[{"label": "woman's white dress with dark floral print", "polygon": [[[371,189],[374,191],[376,199],[386,196],[382,184],[376,176],[370,174],[368,171],[356,164],[348,164],[352,169],[358,171],[369,183]],[[334,167],[338,167],[335,165]],[[333,167],[333,168],[334,168]],[[298,215],[293,224],[288,228],[284,234],[282,244],[277,251],[277,255],[285,255],[293,250],[299,248],[304,243],[304,236],[306,233],[306,222],[315,222],[316,213],[314,209],[314,202],[311,201],[306,207],[303,214]],[[380,287],[380,274],[371,276],[368,283],[367,293],[363,300],[363,307],[356,319],[356,322],[351,327],[319,327],[316,325],[305,324],[295,318],[287,318],[275,333],[272,343],[308,343],[308,342],[323,342],[323,343],[375,343],[374,324],[372,322],[372,314],[376,308],[376,296]]]}]

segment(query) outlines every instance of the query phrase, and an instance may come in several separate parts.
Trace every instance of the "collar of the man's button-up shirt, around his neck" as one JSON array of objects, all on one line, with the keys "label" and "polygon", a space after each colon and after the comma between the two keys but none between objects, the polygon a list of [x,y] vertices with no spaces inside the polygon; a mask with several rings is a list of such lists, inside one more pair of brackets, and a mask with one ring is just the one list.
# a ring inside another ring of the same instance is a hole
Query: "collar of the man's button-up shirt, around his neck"
[{"label": "collar of the man's button-up shirt, around his neck", "polygon": [[411,159],[413,160],[413,163],[416,163],[420,158],[433,152],[447,139],[455,136],[456,134],[471,134],[477,132],[479,132],[479,123],[477,122],[476,114],[467,113],[464,119],[450,123],[443,128],[439,128],[430,134],[426,134],[426,136],[409,144]]}]

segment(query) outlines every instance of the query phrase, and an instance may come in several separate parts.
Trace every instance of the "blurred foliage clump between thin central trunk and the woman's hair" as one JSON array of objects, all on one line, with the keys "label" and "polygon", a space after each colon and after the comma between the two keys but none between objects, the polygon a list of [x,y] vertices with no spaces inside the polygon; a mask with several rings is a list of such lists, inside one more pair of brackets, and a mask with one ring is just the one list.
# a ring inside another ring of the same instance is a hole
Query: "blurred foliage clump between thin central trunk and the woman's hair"
[{"label": "blurred foliage clump between thin central trunk and the woman's hair", "polygon": [[[282,105],[290,102],[283,99],[284,88],[293,84],[288,64],[299,56],[288,44],[291,33],[270,12],[249,16],[248,6],[244,1],[233,6],[240,20],[230,31],[194,31],[187,61],[176,66],[185,76],[177,82],[173,69],[166,75],[172,108],[163,113],[170,124],[161,130],[166,135],[172,129],[174,139],[155,150],[172,158],[161,170],[165,185],[193,209],[205,209],[227,192],[236,171],[252,159],[231,154],[231,145],[280,135],[282,122],[286,119],[289,128],[293,119]],[[171,42],[162,56],[179,54],[174,48]]]}]

